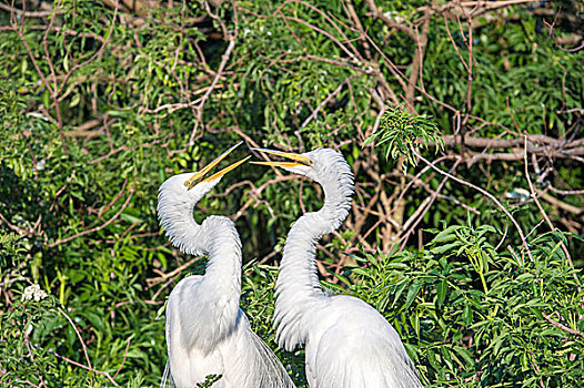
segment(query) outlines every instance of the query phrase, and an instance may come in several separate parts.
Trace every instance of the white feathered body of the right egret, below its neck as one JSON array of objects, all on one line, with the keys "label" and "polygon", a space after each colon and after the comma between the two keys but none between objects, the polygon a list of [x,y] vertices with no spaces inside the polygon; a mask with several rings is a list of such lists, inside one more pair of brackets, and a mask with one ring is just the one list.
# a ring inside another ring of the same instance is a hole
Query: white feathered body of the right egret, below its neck
[{"label": "white feathered body of the right egret, below its neck", "polygon": [[420,387],[399,334],[365,302],[331,297],[313,319],[306,370],[319,387]]}]

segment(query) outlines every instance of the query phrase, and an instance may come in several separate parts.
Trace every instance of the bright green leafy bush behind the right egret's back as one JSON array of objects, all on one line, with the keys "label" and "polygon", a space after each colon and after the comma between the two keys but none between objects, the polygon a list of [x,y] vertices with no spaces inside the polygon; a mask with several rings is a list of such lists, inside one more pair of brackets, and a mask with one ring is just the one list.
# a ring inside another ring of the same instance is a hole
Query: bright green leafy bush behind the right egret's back
[{"label": "bright green leafy bush behind the right egret's back", "polygon": [[355,257],[366,268],[351,270],[349,290],[399,330],[429,387],[578,386],[584,293],[558,248],[565,237],[533,239],[534,262],[523,265],[493,249],[494,232],[454,225],[421,252]]}]

